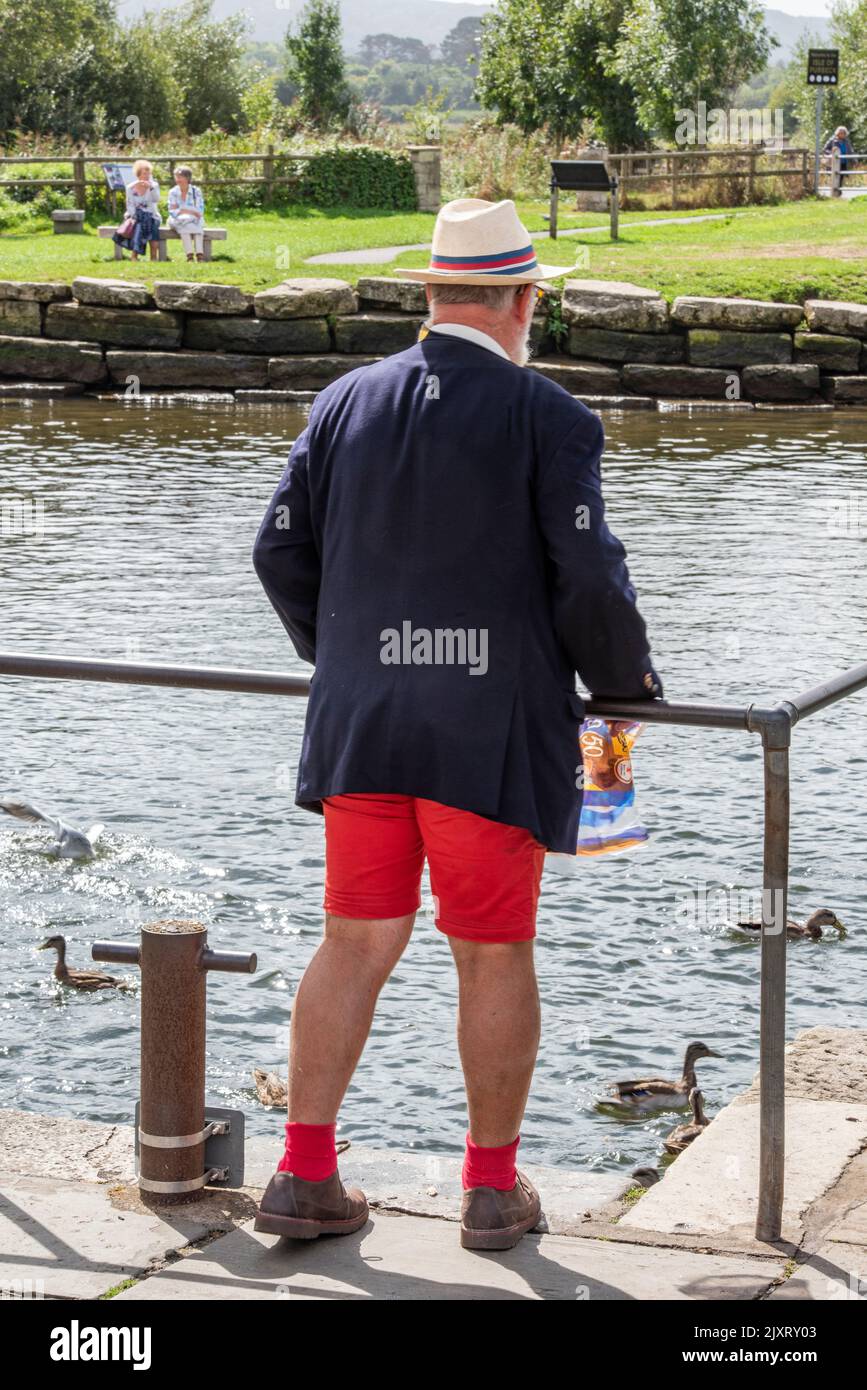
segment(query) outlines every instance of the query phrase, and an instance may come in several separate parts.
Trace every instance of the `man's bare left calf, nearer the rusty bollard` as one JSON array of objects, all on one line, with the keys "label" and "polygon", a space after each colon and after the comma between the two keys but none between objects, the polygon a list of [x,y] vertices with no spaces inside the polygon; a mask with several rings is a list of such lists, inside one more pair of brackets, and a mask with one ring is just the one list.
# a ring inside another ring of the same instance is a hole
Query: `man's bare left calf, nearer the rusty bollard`
[{"label": "man's bare left calf, nearer the rusty bollard", "polygon": [[325,915],[325,940],[304,970],[292,1009],[290,1122],[335,1123],[367,1042],[377,998],[403,955],[414,920],[415,913],[378,920]]}]

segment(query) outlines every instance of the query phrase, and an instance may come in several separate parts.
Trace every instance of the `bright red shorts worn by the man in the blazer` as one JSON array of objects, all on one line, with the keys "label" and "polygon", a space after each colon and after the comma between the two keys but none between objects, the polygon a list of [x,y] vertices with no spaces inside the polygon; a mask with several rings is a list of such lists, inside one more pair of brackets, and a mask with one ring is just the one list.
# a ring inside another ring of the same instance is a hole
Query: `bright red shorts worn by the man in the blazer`
[{"label": "bright red shorts worn by the man in the blazer", "polygon": [[325,902],[339,917],[404,917],[425,858],[436,926],[467,941],[529,941],[545,847],[520,826],[421,796],[327,796]]}]

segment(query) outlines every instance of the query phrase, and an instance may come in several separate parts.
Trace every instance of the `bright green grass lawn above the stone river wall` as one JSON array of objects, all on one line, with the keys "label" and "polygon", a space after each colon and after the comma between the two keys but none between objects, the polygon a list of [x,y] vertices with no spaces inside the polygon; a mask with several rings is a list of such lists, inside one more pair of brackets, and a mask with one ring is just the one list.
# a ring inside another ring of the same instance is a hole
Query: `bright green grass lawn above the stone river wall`
[{"label": "bright green grass lawn above the stone river wall", "polygon": [[[565,200],[561,200],[561,204]],[[543,231],[543,202],[518,204],[525,225]],[[867,303],[867,197],[813,200],[777,207],[722,210],[720,221],[693,222],[702,211],[625,213],[618,242],[609,238],[607,215],[570,213],[561,206],[560,228],[593,228],[556,242],[540,239],[540,260],[575,265],[582,278],[628,279],[675,295],[739,295],[803,300],[811,296]],[[645,225],[682,215],[681,225]],[[295,275],[331,275],[354,282],[358,275],[399,275],[425,265],[427,252],[403,252],[385,264],[307,265],[307,256],[331,250],[428,242],[431,213],[381,213],[296,207],[286,213],[251,211],[215,218],[229,239],[214,245],[208,264],[188,264],[179,242],[170,242],[168,263],[113,260],[113,246],[93,228],[83,236],[51,232],[0,235],[1,279],[67,279],[118,275],[139,281],[213,279],[264,289]]]}]

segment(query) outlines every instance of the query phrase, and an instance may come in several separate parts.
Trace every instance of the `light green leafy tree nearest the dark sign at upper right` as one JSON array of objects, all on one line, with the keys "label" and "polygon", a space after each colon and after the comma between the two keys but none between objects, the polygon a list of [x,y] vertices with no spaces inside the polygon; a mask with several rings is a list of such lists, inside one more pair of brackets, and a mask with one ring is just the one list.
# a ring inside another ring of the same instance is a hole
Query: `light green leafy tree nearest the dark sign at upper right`
[{"label": "light green leafy tree nearest the dark sign at upper right", "polygon": [[773,42],[756,0],[634,0],[609,68],[632,83],[642,122],[671,140],[678,111],[721,107]]}]

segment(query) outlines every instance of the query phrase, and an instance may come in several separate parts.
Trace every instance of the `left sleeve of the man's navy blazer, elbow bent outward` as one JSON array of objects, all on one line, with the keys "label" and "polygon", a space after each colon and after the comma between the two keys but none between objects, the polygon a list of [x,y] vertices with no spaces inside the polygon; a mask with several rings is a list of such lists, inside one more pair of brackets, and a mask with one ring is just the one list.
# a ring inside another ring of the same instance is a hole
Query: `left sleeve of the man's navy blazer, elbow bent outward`
[{"label": "left sleeve of the man's navy blazer, elbow bent outward", "polygon": [[253,567],[297,655],[315,664],[320,552],[310,520],[308,430],[292,446],[289,463],[253,546]]}]

